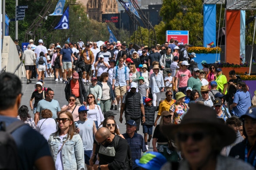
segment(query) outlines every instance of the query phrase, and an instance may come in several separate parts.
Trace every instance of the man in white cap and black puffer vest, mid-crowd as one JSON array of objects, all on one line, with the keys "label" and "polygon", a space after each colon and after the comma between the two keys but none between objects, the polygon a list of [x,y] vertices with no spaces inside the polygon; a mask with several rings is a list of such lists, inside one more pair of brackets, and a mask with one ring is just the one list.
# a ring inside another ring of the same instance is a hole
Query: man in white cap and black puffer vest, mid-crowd
[{"label": "man in white cap and black puffer vest, mid-crowd", "polygon": [[145,110],[143,105],[143,99],[141,95],[136,92],[137,83],[131,83],[131,91],[124,94],[119,121],[123,121],[123,113],[125,111],[124,117],[125,121],[134,120],[136,122],[136,132],[139,131],[140,118],[142,117],[142,123],[145,122]]}]

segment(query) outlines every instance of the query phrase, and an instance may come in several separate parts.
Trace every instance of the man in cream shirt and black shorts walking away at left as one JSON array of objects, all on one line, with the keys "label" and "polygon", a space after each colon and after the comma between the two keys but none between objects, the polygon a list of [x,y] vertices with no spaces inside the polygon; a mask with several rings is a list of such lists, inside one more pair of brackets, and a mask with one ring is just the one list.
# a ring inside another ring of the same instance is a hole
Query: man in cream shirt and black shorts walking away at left
[{"label": "man in cream shirt and black shorts walking away at left", "polygon": [[27,77],[27,84],[32,83],[30,80],[32,76],[32,70],[34,67],[34,62],[36,61],[35,52],[31,50],[31,45],[27,46],[27,50],[23,53],[22,60],[24,60],[25,70],[26,70],[26,77]]}]

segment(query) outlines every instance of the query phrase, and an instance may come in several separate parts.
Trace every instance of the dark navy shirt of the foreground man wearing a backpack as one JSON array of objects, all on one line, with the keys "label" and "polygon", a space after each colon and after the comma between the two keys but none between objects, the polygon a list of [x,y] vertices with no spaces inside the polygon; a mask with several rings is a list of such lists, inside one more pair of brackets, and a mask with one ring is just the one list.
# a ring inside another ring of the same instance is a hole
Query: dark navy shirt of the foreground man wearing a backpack
[{"label": "dark navy shirt of the foreground man wearing a backpack", "polygon": [[[6,126],[8,126],[12,122],[19,120],[0,115],[0,121],[4,121]],[[51,156],[46,139],[27,124],[14,130],[11,135],[17,145],[21,170],[33,170],[36,160],[43,156]]]}]

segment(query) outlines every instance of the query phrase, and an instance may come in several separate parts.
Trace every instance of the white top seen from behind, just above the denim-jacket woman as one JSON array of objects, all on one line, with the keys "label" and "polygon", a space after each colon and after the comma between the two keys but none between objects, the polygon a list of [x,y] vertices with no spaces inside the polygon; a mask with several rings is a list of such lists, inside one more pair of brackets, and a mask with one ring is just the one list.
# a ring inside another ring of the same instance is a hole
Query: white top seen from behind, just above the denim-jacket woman
[{"label": "white top seen from behind, just above the denim-jacket woman", "polygon": [[[40,128],[41,127],[41,128]],[[40,128],[40,131],[39,131]],[[57,132],[58,123],[53,118],[44,118],[37,122],[36,130],[48,141],[52,133]]]}]

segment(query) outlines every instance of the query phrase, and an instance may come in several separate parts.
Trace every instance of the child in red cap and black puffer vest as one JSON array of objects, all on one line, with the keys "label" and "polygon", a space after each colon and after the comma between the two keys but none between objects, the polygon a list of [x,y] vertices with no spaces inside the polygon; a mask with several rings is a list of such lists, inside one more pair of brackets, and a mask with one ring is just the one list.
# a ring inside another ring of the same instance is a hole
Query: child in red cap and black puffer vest
[{"label": "child in red cap and black puffer vest", "polygon": [[[159,106],[153,106],[152,99],[150,98],[146,98],[145,103],[145,122],[141,124],[143,127],[145,145],[147,150],[149,150],[150,140],[152,139],[153,125],[155,123],[155,111],[158,111]],[[148,135],[149,139],[147,139]]]}]

